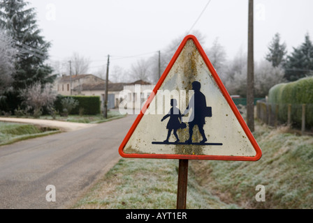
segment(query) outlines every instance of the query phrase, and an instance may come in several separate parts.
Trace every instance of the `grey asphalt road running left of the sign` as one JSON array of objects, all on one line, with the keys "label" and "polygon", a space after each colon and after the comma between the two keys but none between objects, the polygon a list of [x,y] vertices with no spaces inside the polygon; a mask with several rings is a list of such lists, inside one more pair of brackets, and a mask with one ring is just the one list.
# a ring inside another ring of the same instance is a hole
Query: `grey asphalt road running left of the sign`
[{"label": "grey asphalt road running left of the sign", "polygon": [[[119,160],[119,144],[135,118],[0,146],[0,208],[71,207]],[[47,201],[48,185],[56,201]]]}]

